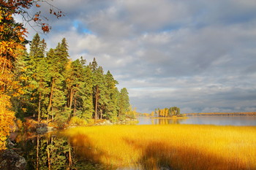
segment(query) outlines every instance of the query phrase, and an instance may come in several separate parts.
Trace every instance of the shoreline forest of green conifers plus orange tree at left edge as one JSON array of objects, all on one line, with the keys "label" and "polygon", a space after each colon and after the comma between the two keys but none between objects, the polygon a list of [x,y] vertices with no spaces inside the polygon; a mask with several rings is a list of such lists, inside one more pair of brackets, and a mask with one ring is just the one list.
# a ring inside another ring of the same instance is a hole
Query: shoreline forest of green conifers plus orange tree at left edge
[{"label": "shoreline forest of green conifers plus orange tree at left edge", "polygon": [[[61,17],[59,9],[47,4],[51,15]],[[95,58],[90,63],[82,57],[72,61],[65,38],[50,50],[39,34],[31,42],[26,39],[28,32],[14,15],[34,21],[43,32],[50,31],[40,11],[29,15],[31,7],[40,5],[26,0],[0,5],[0,150],[6,148],[11,125],[24,117],[61,126],[71,120],[116,121],[130,115],[127,89],[119,91],[113,75],[105,73]]]}]

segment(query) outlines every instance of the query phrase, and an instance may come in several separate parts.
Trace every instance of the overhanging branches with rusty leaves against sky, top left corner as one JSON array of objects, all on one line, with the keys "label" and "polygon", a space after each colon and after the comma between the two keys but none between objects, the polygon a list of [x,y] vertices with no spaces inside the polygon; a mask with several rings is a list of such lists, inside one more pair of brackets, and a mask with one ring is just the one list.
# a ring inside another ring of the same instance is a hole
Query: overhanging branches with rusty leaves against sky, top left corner
[{"label": "overhanging branches with rusty leaves against sky, top left corner", "polygon": [[55,15],[56,18],[64,16],[63,12],[50,4],[48,0],[0,0],[0,9],[6,9],[8,15],[20,15],[23,21],[29,23],[32,28],[34,28],[34,25],[31,25],[31,21],[34,22],[35,26],[40,27],[44,33],[47,33],[51,27],[48,24],[48,17],[42,15],[42,4],[48,5],[49,15]]}]

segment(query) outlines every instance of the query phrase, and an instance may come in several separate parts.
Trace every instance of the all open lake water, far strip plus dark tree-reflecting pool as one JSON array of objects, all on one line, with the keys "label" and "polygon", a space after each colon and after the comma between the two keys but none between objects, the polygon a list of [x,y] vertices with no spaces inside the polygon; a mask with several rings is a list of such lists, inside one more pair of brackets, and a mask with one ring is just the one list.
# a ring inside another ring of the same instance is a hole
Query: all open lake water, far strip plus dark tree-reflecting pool
[{"label": "all open lake water, far strip plus dark tree-reflecting pool", "polygon": [[[256,116],[189,117],[187,119],[138,117],[138,120],[138,126],[159,124],[256,125]],[[46,135],[20,134],[16,138],[16,148],[18,148],[16,150],[26,159],[27,169],[105,169],[100,163],[78,154],[79,150],[87,148],[83,147],[83,144],[72,144],[69,137],[58,134],[58,131]],[[85,141],[89,142],[89,140]],[[94,151],[91,147],[87,150]]]}]

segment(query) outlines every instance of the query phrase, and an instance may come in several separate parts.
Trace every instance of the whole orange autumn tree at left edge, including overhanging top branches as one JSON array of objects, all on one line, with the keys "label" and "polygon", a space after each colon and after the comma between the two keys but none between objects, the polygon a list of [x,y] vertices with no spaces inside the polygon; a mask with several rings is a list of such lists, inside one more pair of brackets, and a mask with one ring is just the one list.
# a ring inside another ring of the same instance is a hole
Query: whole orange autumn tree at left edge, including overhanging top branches
[{"label": "whole orange autumn tree at left edge, including overhanging top branches", "polygon": [[[10,112],[10,97],[11,92],[15,88],[19,87],[18,82],[13,80],[13,69],[14,62],[20,56],[20,51],[25,49],[26,39],[26,29],[23,28],[23,24],[16,23],[13,19],[13,15],[21,15],[23,20],[27,22],[33,21],[37,23],[37,26],[42,28],[42,31],[50,31],[50,26],[48,23],[45,23],[41,15],[41,12],[37,10],[34,15],[29,14],[29,9],[31,7],[40,8],[39,3],[48,3],[48,1],[35,1],[35,0],[0,0],[0,102],[4,102],[1,105],[1,117],[8,117],[8,120],[5,118],[0,120],[0,136],[1,136],[1,149],[4,149],[4,139],[9,134],[10,124],[13,122],[14,114]],[[50,13],[56,15],[57,18],[61,17],[62,12],[49,4]],[[55,12],[56,10],[56,12]],[[47,20],[47,18],[45,18]],[[15,96],[15,93],[12,93],[12,96]],[[8,114],[4,115],[4,114]],[[6,120],[6,121],[4,121]]]}]

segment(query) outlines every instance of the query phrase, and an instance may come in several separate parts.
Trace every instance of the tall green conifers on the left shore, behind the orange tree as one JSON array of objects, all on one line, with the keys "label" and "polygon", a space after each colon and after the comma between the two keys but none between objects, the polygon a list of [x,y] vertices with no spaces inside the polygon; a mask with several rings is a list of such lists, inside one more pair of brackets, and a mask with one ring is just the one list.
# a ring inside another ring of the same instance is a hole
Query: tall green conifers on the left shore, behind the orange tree
[{"label": "tall green conifers on the left shore, behind the orange tree", "polygon": [[86,65],[81,57],[69,58],[64,38],[55,49],[46,51],[39,34],[31,41],[29,54],[15,61],[15,76],[23,88],[22,94],[12,98],[17,117],[37,117],[66,123],[72,117],[90,120],[123,119],[129,111],[126,88],[118,91],[118,82],[94,60]]}]

